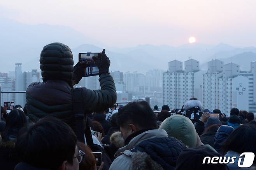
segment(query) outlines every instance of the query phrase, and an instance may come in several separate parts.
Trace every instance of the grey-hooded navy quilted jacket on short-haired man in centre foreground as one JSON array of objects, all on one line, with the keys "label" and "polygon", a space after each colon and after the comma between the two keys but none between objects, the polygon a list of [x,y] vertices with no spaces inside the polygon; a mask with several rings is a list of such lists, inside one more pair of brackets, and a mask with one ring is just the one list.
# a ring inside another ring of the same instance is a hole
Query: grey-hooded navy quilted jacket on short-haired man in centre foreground
[{"label": "grey-hooded navy quilted jacket on short-haired man in centre foreground", "polygon": [[113,161],[109,169],[130,170],[138,151],[146,152],[161,166],[165,165],[174,169],[179,152],[185,148],[186,146],[181,141],[175,138],[168,138],[165,130],[148,130],[134,137],[128,145],[118,149],[115,154],[117,158]]}]

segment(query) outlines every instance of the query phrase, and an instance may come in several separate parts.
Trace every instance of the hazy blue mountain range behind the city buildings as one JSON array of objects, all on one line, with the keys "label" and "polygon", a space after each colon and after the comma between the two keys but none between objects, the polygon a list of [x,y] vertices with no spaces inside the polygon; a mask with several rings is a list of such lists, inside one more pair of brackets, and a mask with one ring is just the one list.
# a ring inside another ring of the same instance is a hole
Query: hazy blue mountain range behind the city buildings
[{"label": "hazy blue mountain range behind the city buildings", "polygon": [[193,43],[178,47],[142,44],[119,48],[106,46],[69,26],[28,25],[6,18],[0,18],[0,22],[0,72],[14,70],[15,63],[22,63],[23,71],[39,69],[42,47],[51,42],[67,44],[74,55],[74,63],[78,61],[78,53],[100,52],[106,48],[111,61],[110,70],[123,72],[167,70],[169,61],[189,58],[200,61],[201,69],[205,69],[207,61],[221,59],[224,63],[238,63],[242,70],[248,70],[250,62],[256,60],[256,47]]}]

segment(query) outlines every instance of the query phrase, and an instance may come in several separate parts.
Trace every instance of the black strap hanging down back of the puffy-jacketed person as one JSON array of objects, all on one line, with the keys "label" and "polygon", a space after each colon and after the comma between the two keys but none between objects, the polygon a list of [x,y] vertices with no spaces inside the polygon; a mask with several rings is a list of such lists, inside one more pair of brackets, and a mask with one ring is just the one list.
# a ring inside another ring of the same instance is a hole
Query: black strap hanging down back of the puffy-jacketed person
[{"label": "black strap hanging down back of the puffy-jacketed person", "polygon": [[[93,145],[93,138],[91,137],[91,129],[89,126],[89,121],[88,121],[87,115],[84,113],[82,89],[81,88],[72,89],[72,97],[73,97],[73,114],[75,117],[75,125],[76,125],[75,134],[77,136],[77,139],[85,143],[85,140],[84,140],[84,135],[85,135],[87,145]],[[84,129],[84,126],[86,127],[85,129]]]}]

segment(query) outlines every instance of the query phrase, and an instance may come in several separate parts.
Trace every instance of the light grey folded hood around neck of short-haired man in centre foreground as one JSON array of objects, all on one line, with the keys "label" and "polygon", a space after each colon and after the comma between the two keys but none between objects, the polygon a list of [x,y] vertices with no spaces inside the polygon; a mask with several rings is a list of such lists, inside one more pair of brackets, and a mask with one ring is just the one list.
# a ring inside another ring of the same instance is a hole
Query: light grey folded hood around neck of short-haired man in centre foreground
[{"label": "light grey folded hood around neck of short-haired man in centre foreground", "polygon": [[151,138],[158,138],[158,137],[168,137],[168,134],[165,130],[162,129],[155,129],[155,130],[148,130],[141,134],[139,134],[137,137],[134,137],[128,145],[125,145],[124,147],[121,147],[118,149],[118,151],[115,154],[115,157],[117,158],[126,150],[133,149],[135,146],[139,145],[140,142],[151,139]]}]

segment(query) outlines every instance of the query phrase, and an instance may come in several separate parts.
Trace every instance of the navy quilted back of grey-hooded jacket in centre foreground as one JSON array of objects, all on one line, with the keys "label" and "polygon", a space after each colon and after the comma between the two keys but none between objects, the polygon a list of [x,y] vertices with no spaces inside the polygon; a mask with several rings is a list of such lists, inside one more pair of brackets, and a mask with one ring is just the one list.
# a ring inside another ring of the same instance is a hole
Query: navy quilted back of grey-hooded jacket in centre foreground
[{"label": "navy quilted back of grey-hooded jacket in centre foreground", "polygon": [[161,137],[142,141],[132,152],[146,152],[164,169],[175,169],[180,152],[186,148],[174,137]]}]

